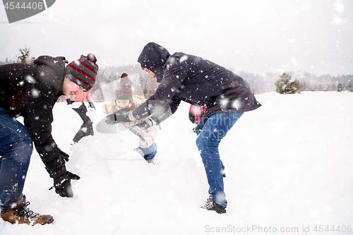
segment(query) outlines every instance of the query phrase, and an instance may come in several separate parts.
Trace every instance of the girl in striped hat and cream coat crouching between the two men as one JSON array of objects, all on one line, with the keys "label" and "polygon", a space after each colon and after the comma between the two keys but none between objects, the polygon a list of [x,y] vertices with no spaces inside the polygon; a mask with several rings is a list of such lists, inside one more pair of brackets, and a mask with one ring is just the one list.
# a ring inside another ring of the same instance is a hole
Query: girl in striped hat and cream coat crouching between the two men
[{"label": "girl in striped hat and cream coat crouching between the two men", "polygon": [[[123,73],[121,78],[116,82],[114,98],[114,101],[102,106],[105,114],[128,114],[145,102],[144,97],[133,95],[133,86],[126,73]],[[140,137],[139,146],[136,148],[136,151],[147,162],[152,163],[157,153],[157,145],[155,144],[157,127],[155,121],[147,117],[138,121],[121,124]]]}]

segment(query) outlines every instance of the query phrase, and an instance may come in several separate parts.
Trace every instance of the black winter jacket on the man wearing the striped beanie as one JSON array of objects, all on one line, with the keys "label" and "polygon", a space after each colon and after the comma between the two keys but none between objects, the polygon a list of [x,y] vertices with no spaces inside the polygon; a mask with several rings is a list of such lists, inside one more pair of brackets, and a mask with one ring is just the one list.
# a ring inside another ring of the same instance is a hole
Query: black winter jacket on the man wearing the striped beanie
[{"label": "black winter jacket on the man wearing the striped beanie", "polygon": [[[52,138],[52,109],[63,94],[64,57],[40,56],[35,64],[0,66],[0,107],[23,116],[37,152],[49,174],[64,174],[65,164]],[[61,172],[57,172],[61,171]]]}]

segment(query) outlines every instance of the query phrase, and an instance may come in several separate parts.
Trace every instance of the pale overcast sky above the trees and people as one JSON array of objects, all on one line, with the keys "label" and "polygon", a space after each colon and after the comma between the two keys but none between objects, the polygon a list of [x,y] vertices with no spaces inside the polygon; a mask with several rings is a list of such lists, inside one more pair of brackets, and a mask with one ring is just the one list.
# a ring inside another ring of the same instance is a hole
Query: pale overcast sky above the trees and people
[{"label": "pale overcast sky above the trees and people", "polygon": [[353,1],[56,0],[8,23],[0,6],[0,60],[92,52],[100,67],[136,64],[145,44],[252,73],[353,73]]}]

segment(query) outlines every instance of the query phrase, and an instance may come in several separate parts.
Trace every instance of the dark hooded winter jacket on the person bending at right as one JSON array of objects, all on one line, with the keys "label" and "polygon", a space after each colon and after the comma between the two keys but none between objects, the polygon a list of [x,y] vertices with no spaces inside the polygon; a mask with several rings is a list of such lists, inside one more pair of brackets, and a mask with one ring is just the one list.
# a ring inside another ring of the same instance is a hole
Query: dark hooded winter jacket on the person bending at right
[{"label": "dark hooded winter jacket on the person bending at right", "polygon": [[213,114],[261,107],[243,78],[207,59],[181,52],[170,55],[164,47],[150,42],[138,62],[154,72],[161,83],[155,94],[133,111],[135,119],[153,115],[163,121],[174,114],[181,100],[206,105],[202,126]]}]

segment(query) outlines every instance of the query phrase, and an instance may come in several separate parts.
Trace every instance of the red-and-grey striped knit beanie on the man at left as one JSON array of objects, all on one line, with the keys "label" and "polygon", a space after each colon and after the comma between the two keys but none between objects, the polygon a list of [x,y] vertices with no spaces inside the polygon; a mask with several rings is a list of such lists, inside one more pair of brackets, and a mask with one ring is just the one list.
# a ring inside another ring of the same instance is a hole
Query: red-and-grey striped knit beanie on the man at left
[{"label": "red-and-grey striped knit beanie on the man at left", "polygon": [[66,66],[66,77],[88,91],[95,84],[98,72],[96,62],[97,58],[92,53],[87,56],[81,55],[80,59],[76,59]]}]

